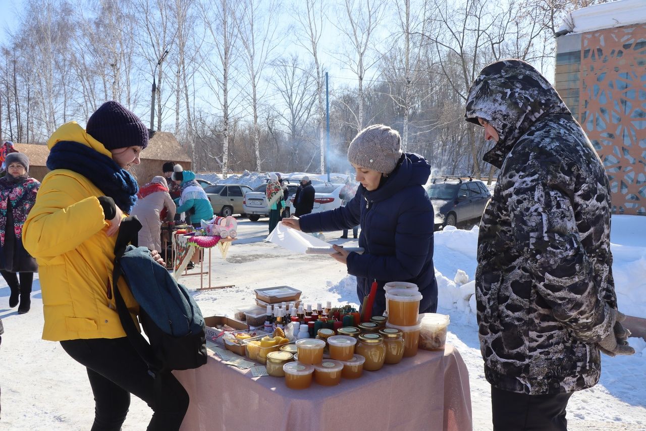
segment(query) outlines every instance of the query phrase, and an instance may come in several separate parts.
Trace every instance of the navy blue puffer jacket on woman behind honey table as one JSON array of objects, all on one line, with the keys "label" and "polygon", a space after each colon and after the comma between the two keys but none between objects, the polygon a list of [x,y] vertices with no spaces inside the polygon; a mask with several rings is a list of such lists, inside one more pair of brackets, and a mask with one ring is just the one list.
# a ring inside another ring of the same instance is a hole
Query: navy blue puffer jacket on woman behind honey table
[{"label": "navy blue puffer jacket on woman behind honey table", "polygon": [[344,207],[300,218],[304,232],[351,229],[360,224],[359,246],[364,254],[350,253],[348,273],[357,277],[359,304],[377,280],[373,315],[386,310],[384,284],[412,282],[422,293],[420,313],[437,309],[437,283],[433,268],[433,205],[424,190],[431,167],[419,154],[402,154],[377,190],[359,185]]}]

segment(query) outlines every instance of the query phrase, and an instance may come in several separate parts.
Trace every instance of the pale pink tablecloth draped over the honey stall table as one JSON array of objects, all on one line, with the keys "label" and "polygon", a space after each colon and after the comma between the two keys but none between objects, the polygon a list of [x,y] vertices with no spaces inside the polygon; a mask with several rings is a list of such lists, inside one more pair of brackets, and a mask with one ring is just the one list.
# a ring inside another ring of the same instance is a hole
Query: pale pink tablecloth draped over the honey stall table
[{"label": "pale pink tablecloth draped over the honey stall table", "polygon": [[183,431],[472,429],[466,365],[448,345],[306,390],[288,389],[278,377],[251,377],[212,356],[197,370],[174,373],[191,396]]}]

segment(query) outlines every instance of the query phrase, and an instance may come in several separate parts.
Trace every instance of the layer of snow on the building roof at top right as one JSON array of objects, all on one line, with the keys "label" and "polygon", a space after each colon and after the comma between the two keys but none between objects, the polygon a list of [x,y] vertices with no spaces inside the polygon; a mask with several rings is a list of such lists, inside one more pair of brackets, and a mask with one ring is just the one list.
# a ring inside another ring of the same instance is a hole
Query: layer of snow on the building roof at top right
[{"label": "layer of snow on the building roof at top right", "polygon": [[557,36],[642,23],[646,23],[646,1],[611,1],[570,12]]}]

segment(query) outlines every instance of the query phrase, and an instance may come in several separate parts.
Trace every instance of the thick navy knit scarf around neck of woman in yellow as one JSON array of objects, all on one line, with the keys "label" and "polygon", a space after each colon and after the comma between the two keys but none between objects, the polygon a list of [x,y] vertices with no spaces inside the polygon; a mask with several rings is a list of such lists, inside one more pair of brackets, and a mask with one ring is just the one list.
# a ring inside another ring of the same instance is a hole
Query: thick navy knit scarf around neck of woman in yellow
[{"label": "thick navy knit scarf around neck of woman in yellow", "polygon": [[87,145],[72,141],[61,141],[52,147],[47,158],[47,168],[69,169],[85,176],[105,196],[114,199],[121,211],[129,214],[137,200],[139,187],[134,176],[105,154]]}]

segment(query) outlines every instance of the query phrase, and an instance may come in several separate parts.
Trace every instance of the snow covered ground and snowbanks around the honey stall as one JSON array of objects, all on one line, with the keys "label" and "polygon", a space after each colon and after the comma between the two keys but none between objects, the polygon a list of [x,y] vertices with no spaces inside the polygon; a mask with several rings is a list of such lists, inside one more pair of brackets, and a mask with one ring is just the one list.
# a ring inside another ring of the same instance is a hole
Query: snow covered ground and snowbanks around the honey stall
[{"label": "snow covered ground and snowbanks around the honey stall", "polygon": [[[289,285],[303,291],[306,302],[332,300],[356,303],[353,277],[326,256],[295,255],[264,242],[267,222],[240,219],[238,240],[223,260],[212,257],[213,282],[233,288],[195,293],[204,315],[233,315],[233,308],[253,303],[253,289]],[[326,233],[337,244],[340,232]],[[614,279],[620,310],[646,317],[646,217],[613,216]],[[466,363],[471,384],[475,430],[491,430],[490,386],[483,375],[473,313],[473,282],[477,227],[450,229],[435,235],[435,269],[439,284],[439,312],[449,314],[448,341],[457,346]],[[198,276],[182,281],[200,285]],[[60,344],[40,339],[43,311],[38,280],[34,282],[32,311],[17,315],[8,308],[9,288],[0,284],[0,317],[5,324],[0,349],[2,430],[87,430],[94,417],[94,402],[85,370]],[[646,342],[631,338],[632,357],[603,356],[601,382],[574,394],[568,405],[570,430],[646,430]],[[214,388],[216,390],[216,388]],[[132,397],[124,431],[145,429],[151,410]],[[214,427],[213,429],[216,429]]]}]

